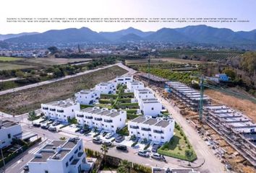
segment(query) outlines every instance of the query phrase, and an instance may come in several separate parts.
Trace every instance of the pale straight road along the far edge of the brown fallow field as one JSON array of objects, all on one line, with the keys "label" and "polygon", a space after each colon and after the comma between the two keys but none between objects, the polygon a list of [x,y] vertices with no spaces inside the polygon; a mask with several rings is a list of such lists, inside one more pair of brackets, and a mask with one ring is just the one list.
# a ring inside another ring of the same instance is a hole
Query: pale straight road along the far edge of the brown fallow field
[{"label": "pale straight road along the far edge of the brown fallow field", "polygon": [[99,71],[101,69],[105,69],[105,68],[108,68],[108,67],[111,67],[111,66],[120,66],[121,68],[129,69],[127,74],[132,74],[132,72],[134,71],[134,70],[128,68],[127,66],[122,65],[121,63],[115,63],[115,64],[112,64],[112,65],[109,65],[109,66],[104,66],[104,67],[96,68],[96,69],[89,70],[89,71],[83,71],[83,72],[80,72],[78,74],[64,76],[64,77],[58,78],[58,79],[51,79],[51,80],[48,80],[48,81],[41,81],[41,82],[38,82],[36,84],[20,86],[20,87],[14,88],[14,89],[7,89],[7,90],[4,90],[4,91],[0,92],[0,95],[7,94],[7,93],[12,93],[12,92],[17,92],[17,91],[20,91],[22,89],[30,89],[30,88],[33,88],[35,86],[41,86],[41,85],[44,85],[44,84],[51,84],[51,83],[56,82],[56,81],[62,81],[64,79],[69,79],[69,78],[72,78],[72,77],[75,77],[75,76],[81,76],[81,75],[84,75],[84,74],[89,74],[93,71]]}]

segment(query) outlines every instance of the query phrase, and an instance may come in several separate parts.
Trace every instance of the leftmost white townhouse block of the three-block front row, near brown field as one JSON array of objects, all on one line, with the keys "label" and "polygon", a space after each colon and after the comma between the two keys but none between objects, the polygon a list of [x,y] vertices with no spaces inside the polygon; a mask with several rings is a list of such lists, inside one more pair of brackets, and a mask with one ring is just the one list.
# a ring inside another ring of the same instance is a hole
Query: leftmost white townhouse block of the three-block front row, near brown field
[{"label": "leftmost white townhouse block of the three-block front row, near brown field", "polygon": [[41,104],[41,110],[46,117],[59,121],[72,119],[74,111],[80,110],[80,103],[73,102],[71,99]]}]

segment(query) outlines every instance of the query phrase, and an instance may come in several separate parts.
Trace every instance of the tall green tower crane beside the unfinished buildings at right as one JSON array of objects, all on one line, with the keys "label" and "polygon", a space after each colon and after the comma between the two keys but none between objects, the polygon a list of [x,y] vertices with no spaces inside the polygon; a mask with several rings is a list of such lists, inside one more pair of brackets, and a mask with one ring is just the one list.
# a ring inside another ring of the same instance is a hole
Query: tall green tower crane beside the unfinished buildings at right
[{"label": "tall green tower crane beside the unfinished buildings at right", "polygon": [[[207,78],[205,78],[205,76],[203,76],[203,75],[202,76],[192,76],[192,77],[197,77],[200,79],[200,82],[199,82],[199,84],[200,84],[200,102],[199,102],[199,119],[200,119],[200,121],[202,121],[202,115],[203,115],[203,105],[204,105],[203,95],[205,92],[205,87],[217,90],[218,92],[223,92],[223,93],[229,94],[234,97],[238,97],[240,99],[248,99],[248,100],[256,103],[255,97],[249,97],[245,94],[231,91],[230,89],[228,89],[228,87],[226,87],[223,84],[218,84],[220,86],[215,86],[215,85],[209,84],[207,82]],[[225,86],[225,87],[223,87],[223,86]]]}]

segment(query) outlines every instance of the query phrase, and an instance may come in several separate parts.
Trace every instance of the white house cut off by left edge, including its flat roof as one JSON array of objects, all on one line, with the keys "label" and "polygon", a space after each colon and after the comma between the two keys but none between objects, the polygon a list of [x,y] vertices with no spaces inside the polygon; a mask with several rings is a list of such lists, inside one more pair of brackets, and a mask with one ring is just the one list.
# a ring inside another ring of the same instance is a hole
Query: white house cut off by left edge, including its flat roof
[{"label": "white house cut off by left edge, including its flat roof", "polygon": [[0,120],[0,148],[11,145],[12,138],[22,133],[20,124],[10,120]]}]

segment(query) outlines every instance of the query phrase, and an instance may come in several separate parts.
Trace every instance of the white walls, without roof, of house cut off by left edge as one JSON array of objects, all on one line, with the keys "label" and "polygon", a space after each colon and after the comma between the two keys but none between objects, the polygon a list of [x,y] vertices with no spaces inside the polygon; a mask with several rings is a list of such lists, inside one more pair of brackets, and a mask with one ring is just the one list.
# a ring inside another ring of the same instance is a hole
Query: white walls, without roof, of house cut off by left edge
[{"label": "white walls, without roof, of house cut off by left edge", "polygon": [[20,124],[12,125],[8,128],[2,127],[0,129],[0,148],[11,145],[12,138],[19,133],[22,133]]}]

